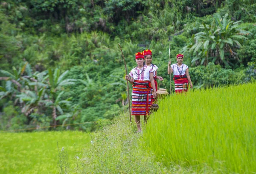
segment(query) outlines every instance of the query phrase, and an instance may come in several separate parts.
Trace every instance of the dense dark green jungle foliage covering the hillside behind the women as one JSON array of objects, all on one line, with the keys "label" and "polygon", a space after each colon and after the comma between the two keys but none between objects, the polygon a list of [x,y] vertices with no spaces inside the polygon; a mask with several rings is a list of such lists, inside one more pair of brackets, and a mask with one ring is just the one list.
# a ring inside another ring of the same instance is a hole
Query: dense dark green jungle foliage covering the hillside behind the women
[{"label": "dense dark green jungle foliage covering the hillside behind the women", "polygon": [[113,119],[128,101],[118,43],[128,71],[151,49],[167,89],[169,44],[196,88],[255,79],[255,9],[256,0],[1,1],[0,129],[93,131]]}]

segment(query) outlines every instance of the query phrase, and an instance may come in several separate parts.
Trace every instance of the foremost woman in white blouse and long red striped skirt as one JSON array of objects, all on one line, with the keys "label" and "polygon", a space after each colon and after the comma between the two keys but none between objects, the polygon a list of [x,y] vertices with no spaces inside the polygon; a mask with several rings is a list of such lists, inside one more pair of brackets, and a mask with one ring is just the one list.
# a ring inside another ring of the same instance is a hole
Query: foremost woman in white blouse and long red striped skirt
[{"label": "foremost woman in white blouse and long red striped skirt", "polygon": [[132,69],[129,75],[125,75],[125,79],[133,84],[131,115],[134,115],[138,128],[137,132],[141,132],[140,116],[144,115],[144,121],[146,123],[150,111],[151,97],[149,97],[149,94],[151,88],[153,88],[153,98],[157,96],[157,93],[153,77],[154,70],[143,64],[143,53],[137,52],[135,59],[137,67]]}]

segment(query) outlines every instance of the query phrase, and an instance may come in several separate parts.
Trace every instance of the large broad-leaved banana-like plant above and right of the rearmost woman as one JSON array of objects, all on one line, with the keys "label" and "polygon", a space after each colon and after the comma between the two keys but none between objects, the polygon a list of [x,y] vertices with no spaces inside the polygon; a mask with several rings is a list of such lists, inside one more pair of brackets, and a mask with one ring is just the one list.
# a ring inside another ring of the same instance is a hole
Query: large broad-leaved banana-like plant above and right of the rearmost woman
[{"label": "large broad-leaved banana-like plant above and right of the rearmost woman", "polygon": [[195,43],[184,46],[182,51],[189,52],[192,56],[192,63],[198,61],[207,65],[208,62],[234,67],[238,63],[236,49],[241,47],[240,41],[247,39],[246,31],[239,29],[240,21],[234,22],[227,19],[228,14],[223,18],[218,13],[213,15],[210,25],[202,21],[202,31],[192,35]]}]

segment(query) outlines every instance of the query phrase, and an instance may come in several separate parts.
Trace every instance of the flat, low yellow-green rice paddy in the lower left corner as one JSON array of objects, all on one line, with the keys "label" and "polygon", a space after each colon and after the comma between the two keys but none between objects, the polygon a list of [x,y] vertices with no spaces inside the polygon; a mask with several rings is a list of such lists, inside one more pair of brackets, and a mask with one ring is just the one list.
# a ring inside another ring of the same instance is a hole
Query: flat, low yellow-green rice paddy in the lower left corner
[{"label": "flat, low yellow-green rice paddy in the lower left corner", "polygon": [[0,133],[1,174],[57,174],[58,147],[68,153],[70,173],[76,159],[90,142],[88,133],[53,131],[32,133]]}]

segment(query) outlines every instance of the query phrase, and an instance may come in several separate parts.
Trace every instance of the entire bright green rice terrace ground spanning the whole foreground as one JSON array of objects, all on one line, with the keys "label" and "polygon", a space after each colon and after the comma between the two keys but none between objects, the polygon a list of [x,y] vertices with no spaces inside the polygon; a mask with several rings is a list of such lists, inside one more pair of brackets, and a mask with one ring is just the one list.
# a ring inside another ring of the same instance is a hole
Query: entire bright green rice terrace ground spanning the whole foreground
[{"label": "entire bright green rice terrace ground spanning the whole foreground", "polygon": [[90,134],[2,132],[0,173],[255,173],[255,93],[254,82],[167,96],[143,133],[121,111]]}]

